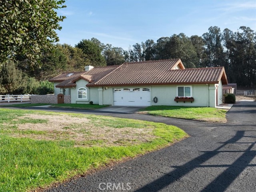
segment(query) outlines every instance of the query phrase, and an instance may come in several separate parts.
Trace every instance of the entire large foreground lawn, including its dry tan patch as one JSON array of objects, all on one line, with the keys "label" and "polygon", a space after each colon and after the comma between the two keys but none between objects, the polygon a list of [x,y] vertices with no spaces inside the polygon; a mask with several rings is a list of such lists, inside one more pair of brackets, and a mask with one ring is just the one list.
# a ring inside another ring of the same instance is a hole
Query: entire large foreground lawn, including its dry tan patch
[{"label": "entire large foreground lawn, including its dry tan patch", "polygon": [[163,123],[0,109],[0,191],[49,186],[184,137],[184,131]]}]

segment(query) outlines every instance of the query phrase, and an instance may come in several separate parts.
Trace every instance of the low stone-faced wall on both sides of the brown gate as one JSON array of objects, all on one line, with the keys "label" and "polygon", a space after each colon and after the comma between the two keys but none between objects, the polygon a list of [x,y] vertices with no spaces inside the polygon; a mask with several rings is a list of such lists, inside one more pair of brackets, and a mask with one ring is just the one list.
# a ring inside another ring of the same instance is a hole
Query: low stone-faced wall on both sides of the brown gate
[{"label": "low stone-faced wall on both sides of the brown gate", "polygon": [[[57,95],[31,95],[31,103],[48,103],[48,104],[57,104]],[[64,103],[71,103],[70,95],[64,96]]]}]

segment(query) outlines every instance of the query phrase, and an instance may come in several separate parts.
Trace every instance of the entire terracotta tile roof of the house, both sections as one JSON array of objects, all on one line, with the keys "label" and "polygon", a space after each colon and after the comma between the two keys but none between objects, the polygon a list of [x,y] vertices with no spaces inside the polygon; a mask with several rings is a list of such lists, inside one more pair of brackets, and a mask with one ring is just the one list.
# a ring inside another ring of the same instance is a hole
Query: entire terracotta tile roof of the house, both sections
[{"label": "entire terracotta tile roof of the house, both sections", "polygon": [[[176,66],[180,69],[175,69]],[[62,73],[49,81],[58,82],[56,87],[75,87],[78,79],[85,79],[90,86],[154,85],[154,84],[203,84],[227,85],[224,67],[185,69],[180,59],[142,61],[122,65],[94,67],[90,71]]]}]

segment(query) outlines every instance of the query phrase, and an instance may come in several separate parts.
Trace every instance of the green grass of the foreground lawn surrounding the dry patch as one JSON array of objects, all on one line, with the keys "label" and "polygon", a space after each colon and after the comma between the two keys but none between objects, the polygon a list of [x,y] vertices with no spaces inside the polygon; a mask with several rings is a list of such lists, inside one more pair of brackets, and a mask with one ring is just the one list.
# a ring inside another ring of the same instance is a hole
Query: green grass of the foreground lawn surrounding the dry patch
[{"label": "green grass of the foreground lawn surrounding the dry patch", "polygon": [[[56,115],[53,112],[0,109],[0,129],[17,117],[32,114]],[[60,113],[68,114],[68,113]],[[57,114],[58,115],[58,114]],[[134,157],[179,141],[188,135],[175,126],[163,123],[120,119],[96,115],[70,114],[90,119],[96,126],[112,126],[116,129],[154,127],[156,139],[130,146],[75,147],[74,141],[44,141],[10,137],[10,129],[0,131],[0,191],[26,191],[63,181],[90,168],[97,168],[110,161]],[[26,119],[28,122],[28,119]],[[21,122],[24,123],[24,122]],[[42,123],[32,121],[32,123]],[[18,131],[14,128],[13,131]],[[44,134],[40,132],[38,134]],[[96,141],[98,142],[98,141]]]}]

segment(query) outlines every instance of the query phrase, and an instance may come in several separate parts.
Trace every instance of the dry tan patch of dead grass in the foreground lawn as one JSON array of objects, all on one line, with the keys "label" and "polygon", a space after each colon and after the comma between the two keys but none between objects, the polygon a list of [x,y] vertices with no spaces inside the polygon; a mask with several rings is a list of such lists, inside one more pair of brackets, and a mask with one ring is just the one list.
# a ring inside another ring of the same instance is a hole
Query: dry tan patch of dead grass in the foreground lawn
[{"label": "dry tan patch of dead grass in the foreground lawn", "polygon": [[[43,123],[40,123],[40,120]],[[38,123],[39,122],[39,123]],[[46,122],[46,123],[45,123]],[[36,140],[74,141],[74,146],[130,146],[156,139],[153,128],[113,128],[70,115],[27,114],[15,121],[12,137]],[[10,124],[9,124],[10,126]]]}]

